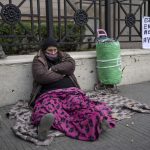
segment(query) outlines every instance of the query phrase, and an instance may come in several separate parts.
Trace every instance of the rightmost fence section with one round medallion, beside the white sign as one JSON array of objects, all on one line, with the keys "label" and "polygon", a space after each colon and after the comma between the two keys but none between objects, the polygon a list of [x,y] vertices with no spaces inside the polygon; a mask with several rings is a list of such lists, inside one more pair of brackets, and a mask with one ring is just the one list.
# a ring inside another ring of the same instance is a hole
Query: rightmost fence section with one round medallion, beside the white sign
[{"label": "rightmost fence section with one round medallion, beside the white sign", "polygon": [[[109,34],[119,39],[120,42],[141,42],[142,17],[150,16],[150,1],[115,0],[112,6],[106,5],[109,10],[107,17],[105,17]],[[111,20],[112,24],[108,24],[108,20]]]}]

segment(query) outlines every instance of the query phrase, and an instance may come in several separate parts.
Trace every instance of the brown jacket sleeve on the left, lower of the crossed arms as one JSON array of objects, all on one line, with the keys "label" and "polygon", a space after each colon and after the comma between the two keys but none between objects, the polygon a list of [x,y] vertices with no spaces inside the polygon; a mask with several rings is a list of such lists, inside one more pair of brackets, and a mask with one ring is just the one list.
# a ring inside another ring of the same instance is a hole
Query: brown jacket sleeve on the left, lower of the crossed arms
[{"label": "brown jacket sleeve on the left, lower of the crossed arms", "polygon": [[34,58],[32,63],[32,74],[35,81],[39,84],[49,84],[64,77],[64,75],[48,70],[48,68],[39,61],[37,57]]}]

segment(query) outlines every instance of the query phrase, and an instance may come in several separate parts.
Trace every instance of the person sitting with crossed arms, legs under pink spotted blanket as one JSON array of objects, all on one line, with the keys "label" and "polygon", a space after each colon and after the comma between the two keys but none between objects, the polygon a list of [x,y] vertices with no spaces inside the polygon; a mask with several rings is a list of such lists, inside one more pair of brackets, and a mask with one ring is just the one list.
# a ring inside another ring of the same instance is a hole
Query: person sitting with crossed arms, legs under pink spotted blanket
[{"label": "person sitting with crossed arms, legs under pink spotted blanket", "polygon": [[45,140],[53,127],[69,137],[93,141],[102,132],[104,122],[110,128],[115,126],[110,108],[86,96],[74,71],[75,60],[59,51],[53,38],[46,39],[33,60],[34,84],[29,102],[39,140]]}]

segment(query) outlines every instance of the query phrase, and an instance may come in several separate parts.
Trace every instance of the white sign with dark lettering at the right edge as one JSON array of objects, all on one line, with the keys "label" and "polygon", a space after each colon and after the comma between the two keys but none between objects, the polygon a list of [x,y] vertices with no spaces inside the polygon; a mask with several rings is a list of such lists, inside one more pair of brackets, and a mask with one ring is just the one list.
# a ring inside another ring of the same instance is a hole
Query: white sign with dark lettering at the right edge
[{"label": "white sign with dark lettering at the right edge", "polygon": [[142,18],[142,48],[150,49],[150,17]]}]

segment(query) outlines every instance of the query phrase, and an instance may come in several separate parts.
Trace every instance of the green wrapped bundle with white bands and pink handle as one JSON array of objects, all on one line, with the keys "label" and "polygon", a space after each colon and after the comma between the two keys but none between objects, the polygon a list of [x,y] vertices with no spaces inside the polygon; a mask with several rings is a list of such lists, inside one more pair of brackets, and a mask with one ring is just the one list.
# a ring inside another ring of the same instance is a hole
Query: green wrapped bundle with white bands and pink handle
[{"label": "green wrapped bundle with white bands and pink handle", "polygon": [[98,29],[96,43],[96,61],[98,79],[104,85],[116,85],[121,82],[120,43],[107,37],[103,29]]}]

